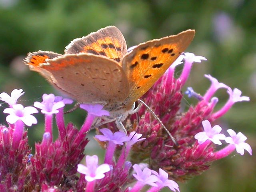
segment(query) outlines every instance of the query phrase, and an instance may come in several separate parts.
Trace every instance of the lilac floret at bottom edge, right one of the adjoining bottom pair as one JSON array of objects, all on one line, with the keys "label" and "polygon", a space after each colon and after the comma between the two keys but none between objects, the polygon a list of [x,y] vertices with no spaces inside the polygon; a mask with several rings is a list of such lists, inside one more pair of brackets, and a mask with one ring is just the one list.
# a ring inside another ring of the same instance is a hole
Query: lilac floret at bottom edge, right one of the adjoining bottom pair
[{"label": "lilac floret at bottom edge, right one of the adjoining bottom pair", "polygon": [[152,170],[152,174],[156,175],[158,177],[158,181],[156,182],[156,184],[158,185],[158,187],[169,187],[170,190],[172,191],[180,191],[178,184],[173,181],[168,179],[168,173],[166,173],[164,170],[162,170],[161,168],[159,168],[159,174],[158,172]]}]

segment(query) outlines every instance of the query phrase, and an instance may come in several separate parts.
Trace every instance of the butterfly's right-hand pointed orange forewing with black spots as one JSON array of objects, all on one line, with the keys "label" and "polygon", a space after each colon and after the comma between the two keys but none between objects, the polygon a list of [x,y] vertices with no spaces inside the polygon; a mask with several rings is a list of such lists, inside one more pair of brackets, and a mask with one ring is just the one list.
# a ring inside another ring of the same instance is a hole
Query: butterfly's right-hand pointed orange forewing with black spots
[{"label": "butterfly's right-hand pointed orange forewing with black spots", "polygon": [[153,86],[188,47],[194,34],[194,30],[186,30],[177,35],[151,40],[139,44],[124,56],[122,68],[130,84],[125,104],[132,104]]}]

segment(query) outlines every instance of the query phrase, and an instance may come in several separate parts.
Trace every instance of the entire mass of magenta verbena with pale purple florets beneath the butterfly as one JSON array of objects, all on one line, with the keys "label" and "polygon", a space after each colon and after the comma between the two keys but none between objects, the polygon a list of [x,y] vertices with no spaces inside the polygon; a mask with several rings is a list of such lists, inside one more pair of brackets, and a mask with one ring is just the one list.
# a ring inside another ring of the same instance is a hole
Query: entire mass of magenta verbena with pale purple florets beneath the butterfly
[{"label": "entire mass of magenta verbena with pale purple florets beneath the butterfly", "polygon": [[[103,164],[98,156],[86,156],[86,166],[80,164],[86,152],[87,133],[102,116],[110,113],[99,104],[80,104],[87,115],[81,128],[72,123],[65,124],[64,106],[72,100],[44,94],[42,102],[34,106],[45,116],[42,141],[35,144],[31,153],[26,126],[37,123],[34,115],[38,111],[32,106],[17,104],[23,90],[13,90],[11,96],[0,94],[0,100],[9,107],[8,126],[0,125],[0,191],[19,192],[158,192],[162,188],[179,191],[177,181],[184,181],[201,174],[210,164],[236,151],[252,155],[252,148],[241,132],[227,130],[226,136],[214,121],[223,116],[236,102],[249,101],[237,88],[233,90],[206,75],[212,84],[204,95],[188,88],[186,94],[198,100],[195,106],[182,111],[181,92],[192,64],[206,60],[192,53],[182,54],[164,75],[144,94],[142,99],[160,118],[160,122],[142,106],[136,114],[124,122],[128,135],[120,132],[115,123],[97,130],[96,140],[105,149]],[[175,78],[175,67],[184,63],[180,77]],[[218,98],[214,94],[224,88],[229,99],[220,110],[214,112]],[[67,114],[68,115],[68,114]],[[52,129],[56,117],[57,138]],[[218,149],[216,148],[218,145]],[[80,173],[80,174],[78,174]]]}]

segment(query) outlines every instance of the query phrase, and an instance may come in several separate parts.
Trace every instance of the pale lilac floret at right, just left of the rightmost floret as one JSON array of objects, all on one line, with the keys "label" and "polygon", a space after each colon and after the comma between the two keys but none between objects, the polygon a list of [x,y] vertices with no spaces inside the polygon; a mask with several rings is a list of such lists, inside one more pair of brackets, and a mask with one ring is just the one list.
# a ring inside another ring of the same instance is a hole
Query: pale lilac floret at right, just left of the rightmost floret
[{"label": "pale lilac floret at right, just left of the rightmost floret", "polygon": [[204,131],[199,132],[195,135],[195,138],[198,140],[199,144],[204,143],[206,140],[211,140],[214,144],[221,145],[220,140],[224,140],[226,136],[221,134],[221,127],[215,125],[213,128],[208,120],[202,121]]}]

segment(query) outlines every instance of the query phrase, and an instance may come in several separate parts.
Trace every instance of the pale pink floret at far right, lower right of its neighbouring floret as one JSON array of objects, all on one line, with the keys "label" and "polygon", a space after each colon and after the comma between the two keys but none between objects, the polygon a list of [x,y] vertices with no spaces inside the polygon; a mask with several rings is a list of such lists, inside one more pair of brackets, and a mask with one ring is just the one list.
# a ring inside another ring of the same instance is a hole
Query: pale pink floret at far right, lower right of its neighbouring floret
[{"label": "pale pink floret at far right, lower right of its neighbouring floret", "polygon": [[234,132],[232,129],[228,129],[227,132],[230,134],[230,137],[226,137],[225,141],[230,144],[234,144],[236,146],[236,152],[241,155],[244,155],[244,150],[248,151],[250,155],[252,155],[252,148],[251,146],[244,142],[247,140],[247,137],[242,134],[241,132]]}]

